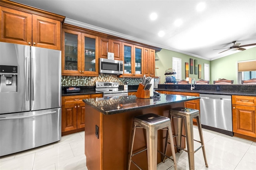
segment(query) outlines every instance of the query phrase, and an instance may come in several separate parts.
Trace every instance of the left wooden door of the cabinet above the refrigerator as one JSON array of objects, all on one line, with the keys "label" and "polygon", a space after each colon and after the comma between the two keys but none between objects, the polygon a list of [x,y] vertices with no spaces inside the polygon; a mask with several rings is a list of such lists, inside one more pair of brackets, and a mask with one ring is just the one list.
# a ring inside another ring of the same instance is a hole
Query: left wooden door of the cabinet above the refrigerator
[{"label": "left wooden door of the cabinet above the refrigerator", "polygon": [[0,41],[29,45],[28,43],[32,42],[32,14],[2,6],[0,9]]}]

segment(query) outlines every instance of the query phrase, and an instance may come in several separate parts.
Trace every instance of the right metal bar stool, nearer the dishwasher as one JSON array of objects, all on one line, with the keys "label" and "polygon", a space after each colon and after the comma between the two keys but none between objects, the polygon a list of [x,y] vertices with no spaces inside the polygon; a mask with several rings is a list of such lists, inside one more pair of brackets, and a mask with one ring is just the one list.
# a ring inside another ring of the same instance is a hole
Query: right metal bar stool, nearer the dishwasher
[{"label": "right metal bar stool, nearer the dishwasher", "polygon": [[[178,134],[174,135],[173,137],[176,137],[178,152],[180,150],[184,150],[188,153],[188,162],[189,162],[189,168],[190,170],[194,170],[194,153],[198,151],[200,148],[202,148],[203,154],[204,154],[204,162],[205,166],[208,167],[207,160],[206,160],[206,154],[204,149],[204,139],[203,139],[203,133],[202,133],[202,126],[200,122],[200,115],[199,111],[196,109],[188,109],[184,107],[176,107],[174,109],[170,109],[169,117],[172,122],[172,118],[177,118],[177,130]],[[201,146],[194,150],[194,136],[193,136],[193,118],[197,121],[198,126],[198,132],[200,136],[200,141],[195,140],[196,142],[201,143]],[[183,126],[183,120],[184,120],[184,127],[185,127],[185,133],[186,136],[182,135],[182,126]],[[167,135],[166,135],[167,136]],[[187,142],[187,150],[181,148],[181,138],[182,136],[186,137]],[[167,148],[167,142],[168,138],[166,138],[166,144],[165,144],[165,153]]]}]

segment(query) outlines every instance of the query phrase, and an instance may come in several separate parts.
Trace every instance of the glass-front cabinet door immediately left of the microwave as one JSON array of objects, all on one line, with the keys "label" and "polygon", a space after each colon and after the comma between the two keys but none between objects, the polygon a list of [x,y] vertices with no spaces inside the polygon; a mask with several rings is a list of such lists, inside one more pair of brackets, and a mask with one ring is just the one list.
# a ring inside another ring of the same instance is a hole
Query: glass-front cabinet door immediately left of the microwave
[{"label": "glass-front cabinet door immediately left of the microwave", "polygon": [[82,74],[98,75],[98,37],[82,33]]}]

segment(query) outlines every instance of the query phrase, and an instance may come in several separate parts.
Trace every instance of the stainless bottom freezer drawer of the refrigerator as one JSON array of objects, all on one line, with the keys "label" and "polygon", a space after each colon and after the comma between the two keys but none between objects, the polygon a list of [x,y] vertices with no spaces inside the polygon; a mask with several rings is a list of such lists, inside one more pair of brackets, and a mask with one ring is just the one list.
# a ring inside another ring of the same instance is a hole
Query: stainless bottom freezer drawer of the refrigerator
[{"label": "stainless bottom freezer drawer of the refrigerator", "polygon": [[0,156],[61,139],[61,108],[0,115]]}]

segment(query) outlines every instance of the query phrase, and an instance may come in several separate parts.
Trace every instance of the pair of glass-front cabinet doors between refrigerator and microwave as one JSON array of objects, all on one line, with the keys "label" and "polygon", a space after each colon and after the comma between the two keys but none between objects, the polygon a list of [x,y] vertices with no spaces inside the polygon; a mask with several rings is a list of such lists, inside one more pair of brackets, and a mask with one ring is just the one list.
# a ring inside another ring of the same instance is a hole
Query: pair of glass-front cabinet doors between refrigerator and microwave
[{"label": "pair of glass-front cabinet doors between refrigerator and microwave", "polygon": [[63,28],[62,41],[63,75],[98,75],[97,36]]}]

